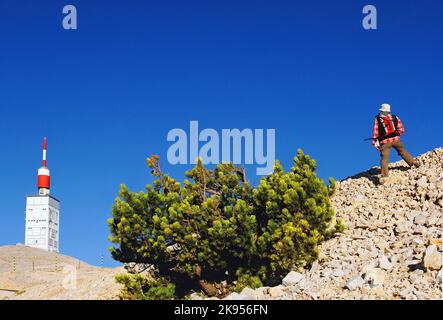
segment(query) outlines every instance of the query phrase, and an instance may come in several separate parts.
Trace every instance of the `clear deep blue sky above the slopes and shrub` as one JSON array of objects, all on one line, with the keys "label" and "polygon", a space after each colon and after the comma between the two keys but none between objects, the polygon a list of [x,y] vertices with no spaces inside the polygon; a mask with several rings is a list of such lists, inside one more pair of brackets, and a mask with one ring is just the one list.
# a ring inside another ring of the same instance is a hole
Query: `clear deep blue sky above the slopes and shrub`
[{"label": "clear deep blue sky above the slopes and shrub", "polygon": [[[76,31],[62,8],[78,10]],[[275,128],[289,168],[297,148],[337,179],[378,164],[362,141],[389,102],[413,155],[442,145],[443,3],[371,1],[23,1],[0,3],[0,245],[24,241],[48,137],[61,199],[62,253],[109,257],[106,219],[120,183],[151,182],[167,132]],[[392,160],[397,156],[393,155]]]}]

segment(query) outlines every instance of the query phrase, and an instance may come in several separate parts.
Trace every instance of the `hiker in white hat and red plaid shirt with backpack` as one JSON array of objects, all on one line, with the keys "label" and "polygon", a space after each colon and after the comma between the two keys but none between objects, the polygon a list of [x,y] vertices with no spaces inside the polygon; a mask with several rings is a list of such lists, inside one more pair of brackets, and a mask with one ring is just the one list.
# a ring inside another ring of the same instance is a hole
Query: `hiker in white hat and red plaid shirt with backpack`
[{"label": "hiker in white hat and red plaid shirt with backpack", "polygon": [[405,132],[405,128],[400,118],[391,114],[391,106],[387,103],[381,105],[380,113],[375,117],[374,134],[372,144],[380,151],[381,156],[381,178],[380,184],[386,182],[389,176],[389,154],[391,148],[397,150],[398,155],[406,161],[410,167],[419,167],[420,162],[415,160],[408,151],[406,151],[400,136]]}]

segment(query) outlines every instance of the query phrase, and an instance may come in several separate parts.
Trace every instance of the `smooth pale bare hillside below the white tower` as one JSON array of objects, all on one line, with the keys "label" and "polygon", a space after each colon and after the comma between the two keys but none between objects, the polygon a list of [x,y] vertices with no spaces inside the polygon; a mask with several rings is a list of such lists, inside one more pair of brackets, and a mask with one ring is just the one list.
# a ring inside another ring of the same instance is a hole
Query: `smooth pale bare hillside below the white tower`
[{"label": "smooth pale bare hillside below the white tower", "polygon": [[0,300],[116,299],[120,285],[114,275],[122,271],[23,245],[4,246],[0,247]]}]

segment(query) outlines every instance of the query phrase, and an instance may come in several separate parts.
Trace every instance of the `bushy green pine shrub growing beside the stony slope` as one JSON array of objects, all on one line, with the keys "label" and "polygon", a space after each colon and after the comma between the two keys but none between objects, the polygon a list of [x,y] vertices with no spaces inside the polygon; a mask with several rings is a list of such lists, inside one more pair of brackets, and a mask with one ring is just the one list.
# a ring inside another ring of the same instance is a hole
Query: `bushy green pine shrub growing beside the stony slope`
[{"label": "bushy green pine shrub growing beside the stony slope", "polygon": [[343,230],[330,201],[334,181],[326,186],[301,150],[289,172],[277,162],[256,188],[233,164],[208,170],[199,161],[181,185],[160,170],[157,156],[147,162],[153,185],[139,193],[122,185],[108,220],[113,258],[153,266],[148,277],[117,277],[124,299],[276,285],[312,264],[318,244]]}]

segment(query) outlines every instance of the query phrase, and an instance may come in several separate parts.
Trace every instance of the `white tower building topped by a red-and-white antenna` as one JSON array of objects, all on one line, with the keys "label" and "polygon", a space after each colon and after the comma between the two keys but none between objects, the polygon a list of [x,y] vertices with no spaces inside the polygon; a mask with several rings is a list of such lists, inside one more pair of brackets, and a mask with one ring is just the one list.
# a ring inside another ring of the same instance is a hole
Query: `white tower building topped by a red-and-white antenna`
[{"label": "white tower building topped by a red-and-white antenna", "polygon": [[43,163],[38,169],[38,195],[26,197],[25,245],[59,252],[60,201],[50,195],[50,173],[46,167],[46,138]]}]

